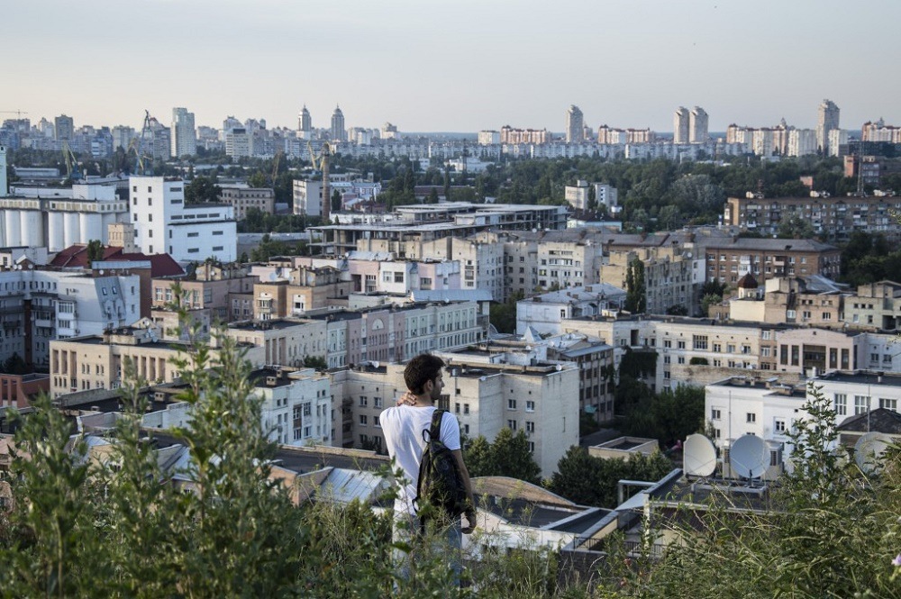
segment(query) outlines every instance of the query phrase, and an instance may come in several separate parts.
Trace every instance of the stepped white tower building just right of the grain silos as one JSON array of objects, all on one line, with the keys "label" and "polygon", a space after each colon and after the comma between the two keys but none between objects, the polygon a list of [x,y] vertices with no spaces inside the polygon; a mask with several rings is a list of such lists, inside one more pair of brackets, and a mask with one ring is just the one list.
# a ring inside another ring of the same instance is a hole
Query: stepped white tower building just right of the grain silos
[{"label": "stepped white tower building just right of the grain silos", "polygon": [[130,177],[134,242],[144,254],[173,259],[233,262],[237,228],[230,204],[185,204],[180,178]]}]

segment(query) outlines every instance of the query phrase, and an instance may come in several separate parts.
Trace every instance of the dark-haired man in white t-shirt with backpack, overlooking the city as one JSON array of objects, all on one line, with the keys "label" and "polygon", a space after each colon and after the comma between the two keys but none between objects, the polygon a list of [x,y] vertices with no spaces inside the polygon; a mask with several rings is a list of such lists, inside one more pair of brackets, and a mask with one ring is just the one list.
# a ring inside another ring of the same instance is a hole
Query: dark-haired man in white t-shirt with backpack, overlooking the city
[{"label": "dark-haired man in white t-shirt with backpack, overlooking the city", "polygon": [[[461,535],[469,534],[476,527],[476,504],[460,449],[460,423],[452,413],[442,410],[440,422],[436,414],[435,402],[444,387],[442,368],[444,361],[430,354],[410,360],[404,370],[407,401],[382,412],[380,422],[388,455],[403,473],[394,505],[394,540],[414,545],[426,524],[434,524],[448,540],[451,568],[455,580],[459,581]],[[432,431],[438,432],[438,439],[432,438]],[[421,476],[423,452],[429,464],[428,471],[423,469]],[[444,474],[445,470],[449,472]],[[445,478],[441,479],[442,476]],[[430,495],[430,487],[442,485],[462,487],[456,489],[460,499],[445,503],[433,493]],[[465,527],[461,527],[460,513],[466,516]],[[401,576],[409,577],[409,567],[409,556],[405,556]]]}]

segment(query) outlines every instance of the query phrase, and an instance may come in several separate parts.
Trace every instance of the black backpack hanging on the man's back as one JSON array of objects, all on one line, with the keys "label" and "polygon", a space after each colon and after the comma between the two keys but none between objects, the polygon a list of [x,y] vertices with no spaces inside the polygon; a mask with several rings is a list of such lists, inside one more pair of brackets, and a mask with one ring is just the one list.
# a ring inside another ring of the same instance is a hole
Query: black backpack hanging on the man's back
[{"label": "black backpack hanging on the man's back", "polygon": [[451,449],[441,442],[441,418],[445,412],[447,410],[435,410],[432,427],[423,431],[425,449],[419,465],[414,505],[417,511],[424,503],[438,514],[456,517],[467,510],[469,497],[457,459]]}]

